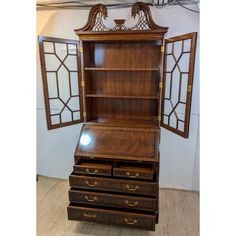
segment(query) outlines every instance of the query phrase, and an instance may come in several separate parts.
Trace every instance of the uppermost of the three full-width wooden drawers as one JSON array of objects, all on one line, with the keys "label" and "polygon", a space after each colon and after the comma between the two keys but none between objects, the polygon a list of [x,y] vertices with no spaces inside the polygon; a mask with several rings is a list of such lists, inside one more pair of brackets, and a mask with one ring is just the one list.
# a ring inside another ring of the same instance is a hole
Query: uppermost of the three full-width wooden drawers
[{"label": "uppermost of the three full-width wooden drawers", "polygon": [[156,195],[157,183],[70,175],[70,186],[142,195]]}]

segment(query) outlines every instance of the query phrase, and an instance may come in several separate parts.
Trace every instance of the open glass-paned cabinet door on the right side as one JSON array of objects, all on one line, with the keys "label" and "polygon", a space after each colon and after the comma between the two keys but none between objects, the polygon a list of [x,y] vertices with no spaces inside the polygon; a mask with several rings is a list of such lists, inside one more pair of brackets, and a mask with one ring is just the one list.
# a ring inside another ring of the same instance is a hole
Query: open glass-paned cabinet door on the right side
[{"label": "open glass-paned cabinet door on the right side", "polygon": [[161,126],[189,135],[197,33],[165,40]]}]

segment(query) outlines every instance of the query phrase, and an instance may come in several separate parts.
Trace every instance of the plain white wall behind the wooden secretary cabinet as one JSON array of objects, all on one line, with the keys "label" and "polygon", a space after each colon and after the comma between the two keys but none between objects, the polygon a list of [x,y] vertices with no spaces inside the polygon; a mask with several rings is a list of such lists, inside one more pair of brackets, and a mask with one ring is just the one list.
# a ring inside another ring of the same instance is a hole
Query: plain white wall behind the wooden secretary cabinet
[{"label": "plain white wall behind the wooden secretary cabinet", "polygon": [[[108,11],[114,18],[132,20],[130,9]],[[152,8],[155,22],[168,26],[167,37],[199,30],[199,15],[179,6]],[[37,35],[78,39],[74,29],[87,21],[87,10],[37,12]],[[162,129],[160,186],[199,190],[199,54],[197,46],[194,92],[191,110],[190,135],[181,138]],[[38,48],[37,48],[38,49]],[[80,125],[47,130],[43,89],[37,50],[37,173],[68,178],[73,165],[73,153]]]}]

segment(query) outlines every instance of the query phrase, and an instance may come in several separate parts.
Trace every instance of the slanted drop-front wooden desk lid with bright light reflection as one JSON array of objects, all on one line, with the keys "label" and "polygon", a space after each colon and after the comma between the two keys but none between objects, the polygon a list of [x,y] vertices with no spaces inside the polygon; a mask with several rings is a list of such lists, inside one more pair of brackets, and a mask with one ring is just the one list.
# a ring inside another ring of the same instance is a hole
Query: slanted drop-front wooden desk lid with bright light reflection
[{"label": "slanted drop-front wooden desk lid with bright light reflection", "polygon": [[84,124],[75,156],[158,161],[159,129]]}]

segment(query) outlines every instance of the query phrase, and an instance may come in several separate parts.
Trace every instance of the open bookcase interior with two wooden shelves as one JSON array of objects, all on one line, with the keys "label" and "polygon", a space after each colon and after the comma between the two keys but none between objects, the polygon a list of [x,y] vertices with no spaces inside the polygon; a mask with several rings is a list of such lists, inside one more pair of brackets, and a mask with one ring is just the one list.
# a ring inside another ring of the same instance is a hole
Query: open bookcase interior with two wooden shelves
[{"label": "open bookcase interior with two wooden shelves", "polygon": [[83,42],[83,52],[87,121],[157,119],[159,41]]}]

